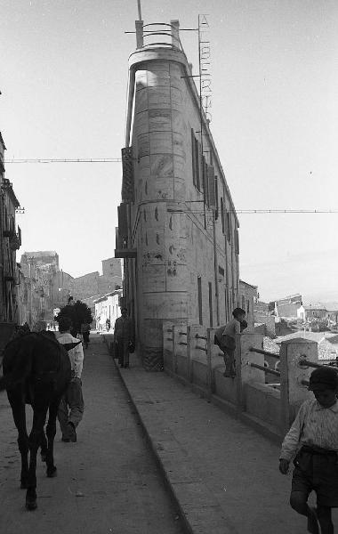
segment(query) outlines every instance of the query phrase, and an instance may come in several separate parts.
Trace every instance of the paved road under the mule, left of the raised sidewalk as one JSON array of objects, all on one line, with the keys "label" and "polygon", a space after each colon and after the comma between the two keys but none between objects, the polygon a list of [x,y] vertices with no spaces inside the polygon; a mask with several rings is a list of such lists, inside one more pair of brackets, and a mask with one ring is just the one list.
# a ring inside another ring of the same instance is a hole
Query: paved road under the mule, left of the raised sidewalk
[{"label": "paved road under the mule, left of the raised sidewalk", "polygon": [[47,479],[38,462],[36,512],[24,507],[17,433],[7,397],[0,393],[2,534],[182,533],[106,345],[101,336],[92,337],[85,352],[85,412],[77,443],[62,443],[58,430],[55,479]]}]

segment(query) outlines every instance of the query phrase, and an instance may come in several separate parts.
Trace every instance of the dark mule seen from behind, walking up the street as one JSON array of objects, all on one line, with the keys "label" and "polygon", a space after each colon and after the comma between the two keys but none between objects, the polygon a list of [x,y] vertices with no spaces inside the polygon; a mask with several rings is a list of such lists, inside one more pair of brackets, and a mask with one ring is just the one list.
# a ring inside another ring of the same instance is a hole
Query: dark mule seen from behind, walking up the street
[{"label": "dark mule seen from behind, walking up the street", "polygon": [[[74,344],[71,344],[74,345]],[[61,396],[71,379],[68,352],[72,346],[61,345],[53,332],[27,333],[14,338],[4,348],[4,376],[0,391],[7,390],[21,455],[21,488],[27,489],[26,507],[36,508],[36,455],[41,445],[47,476],[56,476],[53,442]],[[33,425],[28,436],[26,404],[33,409]],[[46,436],[44,423],[48,415]],[[28,463],[29,451],[29,463]]]}]

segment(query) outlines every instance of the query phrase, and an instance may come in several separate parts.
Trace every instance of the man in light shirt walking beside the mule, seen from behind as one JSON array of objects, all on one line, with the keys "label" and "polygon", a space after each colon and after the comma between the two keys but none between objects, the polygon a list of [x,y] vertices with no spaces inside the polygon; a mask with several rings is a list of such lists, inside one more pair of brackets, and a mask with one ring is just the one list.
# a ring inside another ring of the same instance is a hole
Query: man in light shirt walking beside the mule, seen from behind
[{"label": "man in light shirt walking beside the mule, seen from behind", "polygon": [[82,343],[70,334],[71,320],[65,316],[59,320],[59,332],[55,336],[60,344],[75,344],[68,351],[72,369],[72,379],[67,392],[63,395],[58,410],[58,419],[62,433],[62,441],[76,441],[76,426],[84,415],[84,397],[82,393],[81,374],[84,366],[84,350]]}]

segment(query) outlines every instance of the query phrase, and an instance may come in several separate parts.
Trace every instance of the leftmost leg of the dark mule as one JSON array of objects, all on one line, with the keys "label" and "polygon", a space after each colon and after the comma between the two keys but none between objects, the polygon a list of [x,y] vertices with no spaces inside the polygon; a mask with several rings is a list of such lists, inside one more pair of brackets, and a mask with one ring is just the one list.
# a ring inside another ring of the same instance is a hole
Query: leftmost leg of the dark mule
[{"label": "leftmost leg of the dark mule", "polygon": [[29,441],[26,426],[26,406],[22,400],[21,392],[7,392],[7,397],[9,403],[11,404],[14,424],[18,429],[18,446],[21,456],[21,488],[27,490]]}]

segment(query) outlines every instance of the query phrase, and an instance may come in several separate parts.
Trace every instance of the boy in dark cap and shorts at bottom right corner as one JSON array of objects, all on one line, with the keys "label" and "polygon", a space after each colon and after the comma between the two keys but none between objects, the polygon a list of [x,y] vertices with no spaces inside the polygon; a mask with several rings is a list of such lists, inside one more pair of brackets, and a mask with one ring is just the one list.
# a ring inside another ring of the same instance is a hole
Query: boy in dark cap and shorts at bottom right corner
[{"label": "boy in dark cap and shorts at bottom right corner", "polygon": [[[307,517],[312,534],[334,534],[331,508],[338,507],[337,371],[329,367],[315,369],[309,389],[315,399],[302,403],[286,434],[279,471],[288,473],[294,458],[290,505]],[[317,495],[317,509],[308,505],[312,490]]]}]

